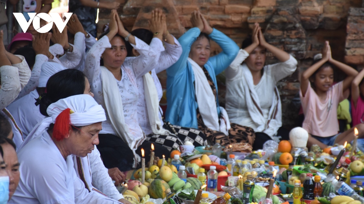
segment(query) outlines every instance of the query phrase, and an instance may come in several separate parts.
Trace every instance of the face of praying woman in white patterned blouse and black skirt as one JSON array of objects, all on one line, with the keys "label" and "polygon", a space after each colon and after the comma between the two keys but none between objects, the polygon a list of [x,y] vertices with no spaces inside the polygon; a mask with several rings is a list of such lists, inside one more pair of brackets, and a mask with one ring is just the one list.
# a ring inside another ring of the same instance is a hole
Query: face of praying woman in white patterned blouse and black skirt
[{"label": "face of praying woman in white patterned blouse and black skirt", "polygon": [[102,54],[104,65],[110,68],[120,69],[126,58],[125,42],[119,37],[115,36],[110,41],[111,48],[106,48]]}]

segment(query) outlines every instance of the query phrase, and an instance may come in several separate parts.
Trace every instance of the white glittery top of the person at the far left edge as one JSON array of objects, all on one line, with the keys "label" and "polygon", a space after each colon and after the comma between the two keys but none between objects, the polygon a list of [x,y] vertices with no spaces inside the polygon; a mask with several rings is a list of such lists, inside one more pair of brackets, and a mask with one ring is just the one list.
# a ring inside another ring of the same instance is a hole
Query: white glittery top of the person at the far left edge
[{"label": "white glittery top of the person at the far left edge", "polygon": [[31,76],[31,70],[25,58],[16,55],[22,61],[12,66],[5,65],[0,67],[1,89],[0,89],[0,110],[13,102],[20,90],[25,87]]}]

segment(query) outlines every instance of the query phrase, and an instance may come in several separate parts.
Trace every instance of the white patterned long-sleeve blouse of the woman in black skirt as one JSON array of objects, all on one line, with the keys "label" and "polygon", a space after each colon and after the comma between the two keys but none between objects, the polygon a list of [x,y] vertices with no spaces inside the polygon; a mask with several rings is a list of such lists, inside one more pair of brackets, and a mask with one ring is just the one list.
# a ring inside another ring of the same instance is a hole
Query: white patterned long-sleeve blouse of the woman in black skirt
[{"label": "white patterned long-sleeve blouse of the woman in black skirt", "polygon": [[[152,41],[157,41],[162,44],[162,41],[158,38],[153,38]],[[138,122],[137,102],[139,99],[139,90],[137,78],[142,77],[155,68],[158,54],[153,48],[137,37],[135,37],[135,45],[131,45],[140,55],[138,57],[126,57],[120,68],[122,73],[121,80],[115,80],[122,97],[126,125],[129,128],[131,135],[140,138],[141,135],[143,135],[143,131]],[[104,103],[100,57],[106,48],[111,48],[111,44],[108,37],[104,36],[87,52],[84,69],[84,73],[90,82],[92,92],[95,94],[94,98],[98,103]],[[108,117],[108,111],[110,110],[105,110],[106,121],[102,122],[102,130],[100,133],[115,135],[110,118]]]}]

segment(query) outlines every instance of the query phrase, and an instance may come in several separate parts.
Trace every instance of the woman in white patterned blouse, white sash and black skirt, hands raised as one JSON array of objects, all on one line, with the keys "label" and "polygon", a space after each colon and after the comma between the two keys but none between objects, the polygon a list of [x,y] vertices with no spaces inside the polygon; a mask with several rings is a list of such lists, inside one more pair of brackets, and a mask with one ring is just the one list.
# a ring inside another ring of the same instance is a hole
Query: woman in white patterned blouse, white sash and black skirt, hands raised
[{"label": "woman in white patterned blouse, white sash and black skirt, hands raised", "polygon": [[[151,19],[150,29],[155,33],[152,41],[163,46],[161,17]],[[146,139],[138,122],[137,78],[155,68],[159,53],[127,32],[116,10],[111,11],[109,31],[99,38],[87,53],[84,69],[95,100],[107,113],[97,147],[105,167],[127,171],[139,164],[135,150]],[[138,57],[126,57],[126,41]]]}]

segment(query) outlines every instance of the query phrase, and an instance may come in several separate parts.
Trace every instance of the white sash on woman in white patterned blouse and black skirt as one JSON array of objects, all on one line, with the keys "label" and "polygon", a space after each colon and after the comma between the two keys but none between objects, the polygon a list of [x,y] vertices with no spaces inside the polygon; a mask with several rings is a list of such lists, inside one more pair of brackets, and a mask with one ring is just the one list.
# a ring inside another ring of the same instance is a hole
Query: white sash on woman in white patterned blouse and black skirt
[{"label": "white sash on woman in white patterned blouse and black skirt", "polygon": [[126,126],[124,119],[123,101],[119,93],[118,84],[115,81],[114,75],[104,66],[100,66],[101,78],[102,78],[102,91],[104,95],[104,103],[101,104],[110,118],[112,128],[117,136],[126,142],[134,153],[133,167],[137,167],[141,158],[135,150],[138,148],[138,144],[145,140],[145,135],[138,139],[135,139],[129,132],[129,128]]}]

